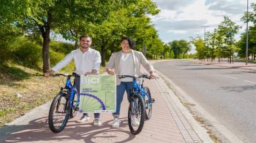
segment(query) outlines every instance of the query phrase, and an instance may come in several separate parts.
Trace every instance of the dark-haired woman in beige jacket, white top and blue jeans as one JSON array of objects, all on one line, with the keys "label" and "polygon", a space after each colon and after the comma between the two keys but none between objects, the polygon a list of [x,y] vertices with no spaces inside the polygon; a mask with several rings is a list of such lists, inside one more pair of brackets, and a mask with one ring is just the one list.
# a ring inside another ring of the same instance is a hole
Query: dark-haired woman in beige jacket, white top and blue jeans
[{"label": "dark-haired woman in beige jacket, white top and blue jeans", "polygon": [[[106,71],[108,74],[117,75],[140,75],[140,64],[150,73],[150,77],[154,78],[153,66],[146,60],[143,53],[132,50],[135,46],[135,42],[128,37],[121,39],[121,51],[112,53],[108,65],[106,66]],[[127,98],[129,98],[129,89],[132,88],[132,78],[123,78],[116,80],[116,112],[113,113],[113,128],[119,128],[120,121],[118,120],[120,114],[121,101],[124,97],[124,91],[127,91]],[[138,125],[138,121],[133,123]]]}]

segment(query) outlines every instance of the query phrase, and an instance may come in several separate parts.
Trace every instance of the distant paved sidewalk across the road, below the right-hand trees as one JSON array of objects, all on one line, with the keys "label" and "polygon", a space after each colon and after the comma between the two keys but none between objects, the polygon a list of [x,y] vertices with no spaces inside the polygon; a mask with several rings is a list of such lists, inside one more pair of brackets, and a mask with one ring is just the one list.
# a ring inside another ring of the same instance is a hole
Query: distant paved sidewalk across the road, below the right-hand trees
[{"label": "distant paved sidewalk across the road, below the right-hand trees", "polygon": [[210,62],[210,61],[199,61],[199,60],[193,60],[192,62],[200,63],[200,64],[207,64],[207,65],[214,65],[214,66],[225,66],[225,67],[236,68],[236,69],[246,69],[246,70],[256,71],[256,63],[248,63],[246,65],[245,62],[227,63],[227,61],[223,61],[222,63],[218,63],[216,61]]}]

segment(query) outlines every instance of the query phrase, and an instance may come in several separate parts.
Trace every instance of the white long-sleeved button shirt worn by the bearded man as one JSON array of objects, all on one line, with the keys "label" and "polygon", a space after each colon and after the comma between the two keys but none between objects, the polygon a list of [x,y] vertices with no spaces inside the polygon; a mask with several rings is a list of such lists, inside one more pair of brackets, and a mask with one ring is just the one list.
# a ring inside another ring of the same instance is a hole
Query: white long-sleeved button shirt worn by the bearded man
[{"label": "white long-sleeved button shirt worn by the bearded man", "polygon": [[97,50],[89,48],[86,53],[82,53],[80,49],[73,50],[62,61],[53,67],[53,71],[59,71],[64,66],[67,66],[72,60],[75,61],[75,73],[86,74],[91,72],[92,69],[99,70],[101,63],[100,53]]}]

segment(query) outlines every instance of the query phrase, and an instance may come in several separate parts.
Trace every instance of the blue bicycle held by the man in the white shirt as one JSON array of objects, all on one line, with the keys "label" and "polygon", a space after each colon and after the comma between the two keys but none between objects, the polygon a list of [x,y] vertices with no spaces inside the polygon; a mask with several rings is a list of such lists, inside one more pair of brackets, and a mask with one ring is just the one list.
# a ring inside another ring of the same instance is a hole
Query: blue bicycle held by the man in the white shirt
[{"label": "blue bicycle held by the man in the white shirt", "polygon": [[69,118],[75,117],[79,110],[80,98],[78,91],[75,88],[75,83],[72,85],[71,77],[79,77],[80,75],[73,73],[69,74],[53,74],[53,77],[67,77],[66,84],[61,87],[61,90],[50,105],[48,115],[48,124],[53,133],[59,133],[64,130]]}]

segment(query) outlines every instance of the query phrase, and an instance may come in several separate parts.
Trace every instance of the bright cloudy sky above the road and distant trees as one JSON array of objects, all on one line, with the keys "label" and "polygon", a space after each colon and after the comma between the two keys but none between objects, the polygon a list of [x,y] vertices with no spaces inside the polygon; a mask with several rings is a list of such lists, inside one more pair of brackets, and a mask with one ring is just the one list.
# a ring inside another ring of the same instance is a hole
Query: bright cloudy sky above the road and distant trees
[{"label": "bright cloudy sky above the road and distant trees", "polygon": [[[203,38],[204,28],[214,31],[224,16],[233,20],[238,26],[242,26],[236,39],[245,31],[246,23],[241,17],[246,12],[246,0],[152,0],[161,10],[158,15],[150,16],[154,27],[157,29],[163,42],[174,39],[186,39],[201,36]],[[256,0],[249,0],[256,3]],[[249,7],[249,11],[252,9]]]}]

